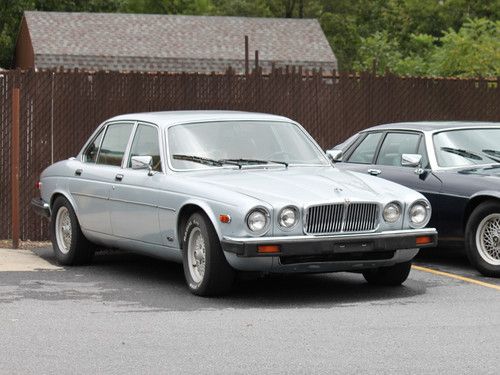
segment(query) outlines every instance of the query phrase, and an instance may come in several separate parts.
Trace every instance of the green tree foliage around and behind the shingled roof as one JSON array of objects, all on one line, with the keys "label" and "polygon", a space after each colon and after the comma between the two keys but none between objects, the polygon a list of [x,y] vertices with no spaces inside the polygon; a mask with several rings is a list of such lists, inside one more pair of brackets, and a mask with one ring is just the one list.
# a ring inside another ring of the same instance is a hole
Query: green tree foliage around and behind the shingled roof
[{"label": "green tree foliage around and behind the shingled roof", "polygon": [[341,70],[500,75],[499,0],[1,0],[0,66],[34,9],[317,18]]}]

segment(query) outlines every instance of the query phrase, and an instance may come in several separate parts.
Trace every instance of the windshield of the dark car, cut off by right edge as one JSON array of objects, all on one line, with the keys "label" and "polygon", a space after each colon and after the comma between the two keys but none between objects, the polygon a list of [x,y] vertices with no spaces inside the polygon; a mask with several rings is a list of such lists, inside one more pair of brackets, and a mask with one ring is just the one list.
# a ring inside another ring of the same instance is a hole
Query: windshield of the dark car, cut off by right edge
[{"label": "windshield of the dark car, cut off by right edge", "polygon": [[500,163],[500,128],[441,132],[434,149],[440,167]]}]

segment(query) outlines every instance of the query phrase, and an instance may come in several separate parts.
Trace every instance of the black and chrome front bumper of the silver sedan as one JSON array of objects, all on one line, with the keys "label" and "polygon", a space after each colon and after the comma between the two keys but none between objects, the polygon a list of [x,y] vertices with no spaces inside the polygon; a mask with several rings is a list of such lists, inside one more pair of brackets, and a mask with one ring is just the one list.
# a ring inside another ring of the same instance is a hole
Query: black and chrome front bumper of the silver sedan
[{"label": "black and chrome front bumper of the silver sedan", "polygon": [[[419,243],[417,239],[424,239]],[[222,249],[238,257],[295,256],[381,253],[401,249],[433,247],[437,245],[434,228],[387,231],[381,233],[338,234],[328,236],[283,237],[223,237]],[[261,253],[259,246],[277,245],[279,252]]]}]

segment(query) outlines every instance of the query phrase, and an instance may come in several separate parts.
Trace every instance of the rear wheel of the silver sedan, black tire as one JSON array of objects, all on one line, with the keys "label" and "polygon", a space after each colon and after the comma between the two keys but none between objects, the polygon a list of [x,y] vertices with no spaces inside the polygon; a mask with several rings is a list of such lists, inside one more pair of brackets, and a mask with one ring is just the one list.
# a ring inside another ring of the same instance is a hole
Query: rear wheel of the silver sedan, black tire
[{"label": "rear wheel of the silver sedan, black tire", "polygon": [[[57,234],[57,225],[61,225],[58,223],[57,215],[61,211],[61,219],[64,220],[64,216],[67,214],[67,218],[69,218],[69,232],[71,234],[71,239],[68,241],[68,245],[64,245],[64,241],[60,238],[62,236]],[[50,235],[52,238],[52,247],[54,249],[54,254],[58,263],[67,265],[67,266],[75,266],[80,264],[87,264],[92,260],[94,256],[95,247],[94,245],[85,238],[80,228],[80,223],[78,222],[78,218],[76,217],[75,211],[71,206],[71,203],[63,197],[57,197],[53,206],[52,206],[52,214],[50,220]]]}]

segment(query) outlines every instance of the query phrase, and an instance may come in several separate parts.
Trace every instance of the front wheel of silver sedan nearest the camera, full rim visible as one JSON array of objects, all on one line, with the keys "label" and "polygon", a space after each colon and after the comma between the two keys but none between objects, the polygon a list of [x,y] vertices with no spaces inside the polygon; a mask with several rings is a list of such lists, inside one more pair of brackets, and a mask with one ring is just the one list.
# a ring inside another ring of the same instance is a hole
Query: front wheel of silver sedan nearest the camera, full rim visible
[{"label": "front wheel of silver sedan nearest the camera, full rim visible", "polygon": [[215,296],[231,289],[235,272],[227,263],[212,223],[202,213],[192,214],[185,225],[182,261],[192,293]]}]

